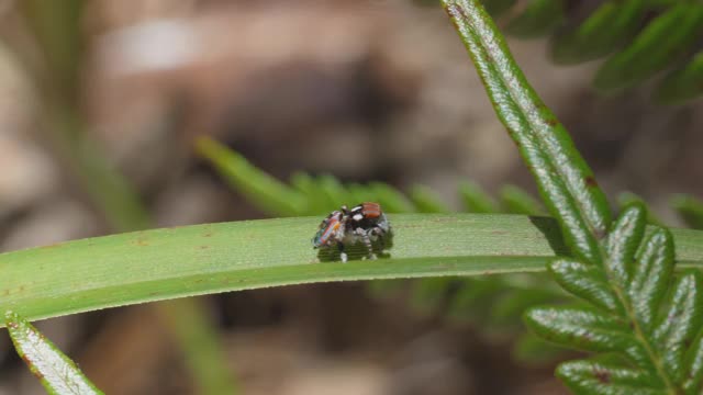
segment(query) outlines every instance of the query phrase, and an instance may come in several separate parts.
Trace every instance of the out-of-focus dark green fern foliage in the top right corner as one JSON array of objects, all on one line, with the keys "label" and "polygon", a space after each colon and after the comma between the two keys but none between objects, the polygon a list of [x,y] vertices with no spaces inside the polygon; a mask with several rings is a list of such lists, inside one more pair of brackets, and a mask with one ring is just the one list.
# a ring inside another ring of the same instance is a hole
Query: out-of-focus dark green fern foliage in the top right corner
[{"label": "out-of-focus dark green fern foliage in the top right corner", "polygon": [[679,104],[703,94],[703,3],[698,0],[484,0],[482,4],[506,34],[550,36],[551,57],[558,64],[605,58],[593,80],[600,91],[621,91],[668,70],[656,88],[658,102]]}]

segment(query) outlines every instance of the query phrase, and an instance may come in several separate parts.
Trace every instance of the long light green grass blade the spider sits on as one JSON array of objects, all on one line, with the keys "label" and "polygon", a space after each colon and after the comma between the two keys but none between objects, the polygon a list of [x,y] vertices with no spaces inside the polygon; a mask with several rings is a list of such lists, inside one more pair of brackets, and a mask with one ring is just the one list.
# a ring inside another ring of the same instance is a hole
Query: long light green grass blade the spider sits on
[{"label": "long light green grass blade the spider sits on", "polygon": [[[315,263],[320,217],[144,230],[0,255],[0,311],[29,319],[226,291],[345,280],[544,271],[557,223],[515,215],[394,214],[391,259]],[[673,232],[703,268],[703,233]],[[556,251],[556,252],[555,252]]]}]

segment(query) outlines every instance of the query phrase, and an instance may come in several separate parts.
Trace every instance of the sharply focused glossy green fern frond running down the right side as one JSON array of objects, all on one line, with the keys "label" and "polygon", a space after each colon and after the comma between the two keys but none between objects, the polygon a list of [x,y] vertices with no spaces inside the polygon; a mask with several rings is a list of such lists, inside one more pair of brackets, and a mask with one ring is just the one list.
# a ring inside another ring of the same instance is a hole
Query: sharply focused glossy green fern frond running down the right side
[{"label": "sharply focused glossy green fern frond running down the right side", "polygon": [[555,259],[549,272],[588,302],[535,307],[525,321],[544,339],[607,357],[563,363],[557,375],[582,394],[701,393],[703,275],[687,270],[672,280],[671,233],[658,226],[646,233],[641,204],[631,204],[612,224],[602,224],[610,218],[603,192],[594,179],[584,181],[592,177],[588,166],[526,81],[480,1],[443,1],[565,234],[571,257]]}]

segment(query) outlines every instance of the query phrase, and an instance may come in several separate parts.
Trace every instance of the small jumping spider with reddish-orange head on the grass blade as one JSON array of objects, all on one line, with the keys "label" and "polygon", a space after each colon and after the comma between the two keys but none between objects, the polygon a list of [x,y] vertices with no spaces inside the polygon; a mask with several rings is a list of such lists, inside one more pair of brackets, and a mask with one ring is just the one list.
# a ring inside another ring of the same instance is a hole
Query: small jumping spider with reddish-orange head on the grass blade
[{"label": "small jumping spider with reddish-orange head on the grass blade", "polygon": [[312,239],[313,248],[331,249],[336,247],[339,258],[346,262],[347,246],[364,244],[366,257],[376,259],[376,251],[390,248],[392,237],[391,224],[378,203],[365,202],[347,208],[335,210],[320,224],[317,234]]}]

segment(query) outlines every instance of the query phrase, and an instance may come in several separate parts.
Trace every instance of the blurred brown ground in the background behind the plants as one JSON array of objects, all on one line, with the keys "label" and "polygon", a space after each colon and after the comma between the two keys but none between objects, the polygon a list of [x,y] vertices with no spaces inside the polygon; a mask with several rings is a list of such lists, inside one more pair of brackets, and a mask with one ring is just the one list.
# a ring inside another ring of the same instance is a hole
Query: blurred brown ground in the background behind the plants
[{"label": "blurred brown ground in the background behind the plants", "polygon": [[[154,227],[264,216],[194,155],[201,134],[280,179],[304,170],[422,183],[454,205],[464,179],[534,191],[439,7],[93,0],[62,53],[65,37],[33,24],[70,20],[52,4],[0,0],[3,251],[130,228],[96,204],[100,173],[77,170],[85,145],[124,176]],[[700,103],[656,106],[647,87],[602,98],[589,87],[595,65],[556,67],[545,42],[510,44],[609,193],[637,192],[670,223],[671,193],[703,194]],[[199,302],[243,394],[562,393],[553,365],[512,362],[509,341],[364,290],[323,284]],[[105,393],[198,393],[159,317],[136,306],[37,326]],[[2,336],[5,393],[43,390]]]}]

